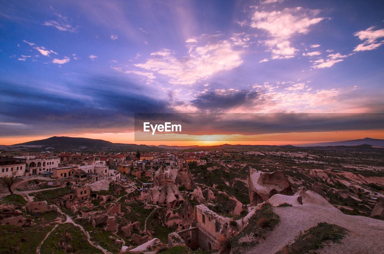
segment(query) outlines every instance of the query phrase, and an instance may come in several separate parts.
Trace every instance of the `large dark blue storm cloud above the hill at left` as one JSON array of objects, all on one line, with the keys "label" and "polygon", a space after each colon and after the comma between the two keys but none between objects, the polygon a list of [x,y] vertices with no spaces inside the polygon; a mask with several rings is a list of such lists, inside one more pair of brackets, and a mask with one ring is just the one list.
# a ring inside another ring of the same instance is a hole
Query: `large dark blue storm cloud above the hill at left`
[{"label": "large dark blue storm cloud above the hill at left", "polygon": [[0,82],[0,135],[71,131],[127,131],[135,112],[172,112],[168,102],[144,95],[135,84],[93,77],[55,89]]}]

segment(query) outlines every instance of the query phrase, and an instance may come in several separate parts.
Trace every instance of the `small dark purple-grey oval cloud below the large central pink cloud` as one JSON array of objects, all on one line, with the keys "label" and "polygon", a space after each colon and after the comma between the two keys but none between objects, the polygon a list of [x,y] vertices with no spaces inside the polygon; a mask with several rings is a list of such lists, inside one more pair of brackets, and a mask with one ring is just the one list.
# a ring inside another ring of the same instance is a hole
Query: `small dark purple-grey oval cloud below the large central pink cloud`
[{"label": "small dark purple-grey oval cloud below the large central pink cloud", "polygon": [[217,110],[232,109],[238,106],[252,103],[258,99],[259,93],[256,91],[211,91],[200,94],[191,101],[192,106],[201,110],[215,112]]}]

